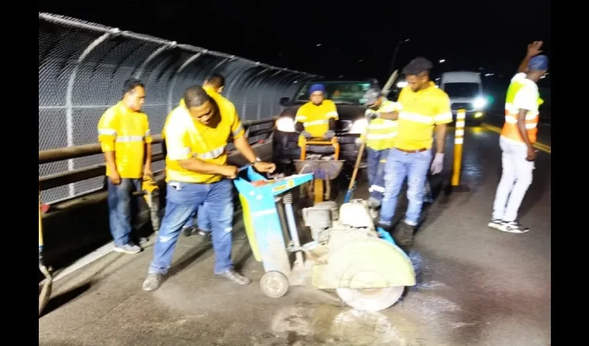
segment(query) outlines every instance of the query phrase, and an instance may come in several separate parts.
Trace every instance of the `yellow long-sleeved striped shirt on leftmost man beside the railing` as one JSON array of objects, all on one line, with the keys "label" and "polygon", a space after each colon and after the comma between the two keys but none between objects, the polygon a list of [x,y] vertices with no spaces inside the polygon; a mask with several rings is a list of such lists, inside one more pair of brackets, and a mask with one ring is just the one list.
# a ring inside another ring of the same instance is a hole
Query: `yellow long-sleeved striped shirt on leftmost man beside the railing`
[{"label": "yellow long-sleeved striped shirt on leftmost man beside the railing", "polygon": [[[116,170],[121,178],[143,176],[145,145],[152,142],[146,113],[132,111],[118,102],[100,117],[98,141],[103,152],[115,152]],[[106,175],[111,175],[108,166]]]}]

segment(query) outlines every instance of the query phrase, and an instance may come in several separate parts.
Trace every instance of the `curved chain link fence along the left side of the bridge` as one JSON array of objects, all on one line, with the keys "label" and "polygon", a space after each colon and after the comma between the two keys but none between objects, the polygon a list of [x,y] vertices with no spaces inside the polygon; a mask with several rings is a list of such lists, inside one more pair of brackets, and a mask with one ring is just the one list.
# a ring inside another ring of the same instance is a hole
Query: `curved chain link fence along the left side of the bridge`
[{"label": "curved chain link fence along the left side of the bridge", "polygon": [[[96,143],[103,112],[121,100],[123,82],[146,85],[143,111],[152,134],[184,90],[213,72],[225,76],[225,97],[242,120],[278,115],[279,98],[315,75],[282,69],[205,48],[177,44],[79,19],[39,12],[39,151]],[[252,138],[256,139],[256,138]],[[154,152],[161,145],[154,146]],[[102,155],[39,165],[39,176],[103,163]],[[154,170],[163,168],[163,161]],[[94,178],[42,192],[44,203],[103,188]]]}]

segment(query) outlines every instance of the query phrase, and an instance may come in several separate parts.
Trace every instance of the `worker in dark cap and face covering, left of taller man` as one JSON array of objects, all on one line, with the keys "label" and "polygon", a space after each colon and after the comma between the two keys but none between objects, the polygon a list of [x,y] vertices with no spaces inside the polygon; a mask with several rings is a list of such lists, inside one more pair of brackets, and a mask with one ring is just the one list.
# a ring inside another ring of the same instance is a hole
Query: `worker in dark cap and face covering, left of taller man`
[{"label": "worker in dark cap and face covering, left of taller man", "polygon": [[[364,94],[364,100],[364,105],[368,107],[367,116],[375,112],[391,113],[397,110],[396,103],[387,100],[378,89],[369,89]],[[396,135],[397,122],[395,120],[373,118],[369,120],[366,134],[360,136],[360,140],[364,140],[366,143],[368,190],[370,192],[368,203],[371,208],[378,208],[383,200],[385,192],[384,168]]]}]

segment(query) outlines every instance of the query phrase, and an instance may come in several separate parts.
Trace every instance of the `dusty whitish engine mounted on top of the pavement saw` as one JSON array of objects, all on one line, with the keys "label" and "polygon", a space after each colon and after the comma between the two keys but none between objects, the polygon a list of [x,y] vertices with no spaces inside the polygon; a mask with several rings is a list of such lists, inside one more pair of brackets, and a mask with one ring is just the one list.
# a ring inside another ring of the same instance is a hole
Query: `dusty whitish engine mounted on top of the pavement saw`
[{"label": "dusty whitish engine mounted on top of the pavement saw", "polygon": [[378,237],[368,203],[353,200],[341,207],[335,201],[316,203],[302,210],[305,226],[322,246],[341,244],[351,237]]}]

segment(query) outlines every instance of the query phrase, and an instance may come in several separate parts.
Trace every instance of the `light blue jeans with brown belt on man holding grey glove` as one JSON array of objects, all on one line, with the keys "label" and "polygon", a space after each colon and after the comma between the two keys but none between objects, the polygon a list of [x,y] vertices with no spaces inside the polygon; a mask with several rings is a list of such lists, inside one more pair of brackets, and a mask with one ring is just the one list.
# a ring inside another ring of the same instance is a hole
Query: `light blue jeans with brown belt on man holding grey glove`
[{"label": "light blue jeans with brown belt on man holding grey glove", "polygon": [[395,215],[398,195],[407,177],[407,199],[409,206],[405,212],[405,224],[417,226],[425,195],[425,180],[432,162],[432,150],[406,153],[392,149],[385,165],[385,194],[380,207],[380,223],[390,226]]}]

